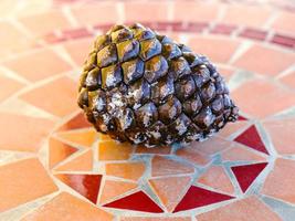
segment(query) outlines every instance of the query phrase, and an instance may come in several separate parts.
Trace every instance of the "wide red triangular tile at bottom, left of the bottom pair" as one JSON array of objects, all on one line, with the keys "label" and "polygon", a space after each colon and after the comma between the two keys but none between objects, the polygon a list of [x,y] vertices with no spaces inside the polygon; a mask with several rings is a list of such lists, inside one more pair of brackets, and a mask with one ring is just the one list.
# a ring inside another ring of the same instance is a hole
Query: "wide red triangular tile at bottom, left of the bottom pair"
[{"label": "wide red triangular tile at bottom, left of the bottom pair", "polygon": [[104,207],[154,213],[164,212],[162,209],[143,191],[138,191],[125,198],[109,202],[104,204]]}]

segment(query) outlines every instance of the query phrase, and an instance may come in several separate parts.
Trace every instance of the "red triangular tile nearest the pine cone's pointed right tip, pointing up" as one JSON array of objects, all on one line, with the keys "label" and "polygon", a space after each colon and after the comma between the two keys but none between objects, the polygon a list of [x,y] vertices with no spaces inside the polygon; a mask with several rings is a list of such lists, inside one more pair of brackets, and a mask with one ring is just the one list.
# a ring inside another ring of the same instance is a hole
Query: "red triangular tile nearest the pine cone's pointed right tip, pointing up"
[{"label": "red triangular tile nearest the pine cone's pointed right tip, pointing up", "polygon": [[261,140],[259,131],[254,125],[252,125],[245,131],[243,131],[240,136],[238,136],[234,139],[234,141],[246,145],[247,147],[252,149],[255,149],[257,151],[262,151],[268,155],[268,151],[266,150],[263,141]]}]

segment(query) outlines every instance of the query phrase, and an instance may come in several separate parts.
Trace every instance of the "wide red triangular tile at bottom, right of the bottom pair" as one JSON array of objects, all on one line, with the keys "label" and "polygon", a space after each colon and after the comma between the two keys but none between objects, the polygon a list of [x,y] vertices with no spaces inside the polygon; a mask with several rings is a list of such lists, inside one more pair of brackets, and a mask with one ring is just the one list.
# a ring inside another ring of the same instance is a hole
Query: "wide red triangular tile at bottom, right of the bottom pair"
[{"label": "wide red triangular tile at bottom, right of the bottom pair", "polygon": [[233,199],[233,197],[191,186],[173,212],[190,210],[230,199]]}]

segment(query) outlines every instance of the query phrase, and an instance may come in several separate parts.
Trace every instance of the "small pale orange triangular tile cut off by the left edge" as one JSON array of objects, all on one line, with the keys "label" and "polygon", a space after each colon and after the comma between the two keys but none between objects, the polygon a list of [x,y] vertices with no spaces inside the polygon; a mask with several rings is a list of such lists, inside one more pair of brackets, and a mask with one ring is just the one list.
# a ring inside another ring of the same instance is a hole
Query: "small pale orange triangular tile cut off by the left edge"
[{"label": "small pale orange triangular tile cut off by the left edge", "polygon": [[15,92],[18,92],[20,88],[22,88],[24,85],[20,82],[17,82],[12,78],[1,76],[0,75],[0,102],[4,101],[6,98],[13,95]]}]

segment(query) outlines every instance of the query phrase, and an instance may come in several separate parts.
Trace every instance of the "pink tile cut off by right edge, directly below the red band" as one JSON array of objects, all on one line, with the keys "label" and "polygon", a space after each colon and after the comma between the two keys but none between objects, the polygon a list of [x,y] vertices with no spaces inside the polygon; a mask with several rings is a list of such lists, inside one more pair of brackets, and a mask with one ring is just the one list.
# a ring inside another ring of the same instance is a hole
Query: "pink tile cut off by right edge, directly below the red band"
[{"label": "pink tile cut off by right edge, directly below the red band", "polygon": [[234,65],[250,72],[275,76],[294,64],[294,62],[295,54],[254,44],[234,62]]}]

